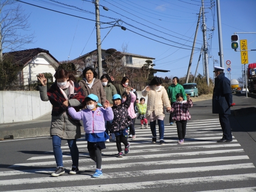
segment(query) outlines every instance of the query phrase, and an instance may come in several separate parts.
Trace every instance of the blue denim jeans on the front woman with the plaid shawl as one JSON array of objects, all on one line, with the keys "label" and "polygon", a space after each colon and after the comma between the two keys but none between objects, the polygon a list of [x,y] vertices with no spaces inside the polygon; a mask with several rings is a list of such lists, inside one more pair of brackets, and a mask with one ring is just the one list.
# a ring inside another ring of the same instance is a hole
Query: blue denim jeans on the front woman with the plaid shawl
[{"label": "blue denim jeans on the front woman with the plaid shawl", "polygon": [[[53,135],[52,139],[53,139],[53,153],[54,153],[57,167],[63,167],[62,150],[60,148],[62,139],[56,135]],[[67,143],[69,145],[69,149],[71,153],[71,158],[73,163],[72,166],[78,167],[79,152],[76,145],[76,139],[67,139]]]}]

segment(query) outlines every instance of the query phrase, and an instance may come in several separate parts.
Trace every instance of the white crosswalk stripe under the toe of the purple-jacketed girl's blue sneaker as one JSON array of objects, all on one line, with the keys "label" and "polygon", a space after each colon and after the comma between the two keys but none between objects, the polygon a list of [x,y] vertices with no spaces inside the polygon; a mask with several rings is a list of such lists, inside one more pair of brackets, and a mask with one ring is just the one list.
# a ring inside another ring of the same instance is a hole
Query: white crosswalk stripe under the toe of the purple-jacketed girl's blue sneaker
[{"label": "white crosswalk stripe under the toe of the purple-jacketed girl's blue sneaker", "polygon": [[[255,168],[253,163],[240,163],[232,165],[216,165],[216,166],[205,166],[205,167],[185,167],[185,168],[169,168],[169,169],[156,169],[156,170],[140,170],[140,171],[127,171],[127,172],[114,172],[105,173],[98,179],[108,178],[126,178],[126,177],[139,177],[149,176],[157,174],[175,174],[175,173],[188,173],[188,172],[205,172],[205,171],[216,171],[216,170],[234,170],[243,168]],[[21,184],[32,184],[42,182],[63,182],[63,181],[81,181],[91,180],[90,175],[75,175],[75,176],[62,176],[59,178],[26,178],[26,179],[10,179],[0,181],[0,186],[3,185],[21,185]]]}]

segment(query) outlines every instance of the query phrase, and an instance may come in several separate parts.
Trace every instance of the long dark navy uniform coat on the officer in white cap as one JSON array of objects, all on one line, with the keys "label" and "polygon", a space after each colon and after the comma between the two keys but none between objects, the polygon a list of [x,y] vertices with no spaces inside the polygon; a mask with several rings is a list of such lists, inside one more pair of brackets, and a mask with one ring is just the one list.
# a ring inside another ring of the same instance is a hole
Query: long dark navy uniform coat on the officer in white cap
[{"label": "long dark navy uniform coat on the officer in white cap", "polygon": [[212,113],[231,114],[231,104],[232,91],[230,81],[225,77],[225,73],[221,73],[215,78],[212,96]]}]

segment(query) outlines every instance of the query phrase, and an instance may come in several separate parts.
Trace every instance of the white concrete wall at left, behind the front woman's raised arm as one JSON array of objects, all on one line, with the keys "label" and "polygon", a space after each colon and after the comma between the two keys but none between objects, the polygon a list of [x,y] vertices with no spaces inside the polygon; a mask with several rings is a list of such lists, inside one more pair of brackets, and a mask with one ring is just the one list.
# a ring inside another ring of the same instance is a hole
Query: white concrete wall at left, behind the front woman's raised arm
[{"label": "white concrete wall at left, behind the front woman's raised arm", "polygon": [[29,121],[52,110],[39,91],[0,91],[0,123]]}]

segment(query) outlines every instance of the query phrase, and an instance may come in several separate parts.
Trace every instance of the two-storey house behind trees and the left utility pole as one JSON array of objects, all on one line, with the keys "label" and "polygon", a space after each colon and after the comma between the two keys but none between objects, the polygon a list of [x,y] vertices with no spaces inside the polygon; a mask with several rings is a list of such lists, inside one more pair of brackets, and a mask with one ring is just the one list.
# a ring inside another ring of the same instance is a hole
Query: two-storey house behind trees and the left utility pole
[{"label": "two-storey house behind trees and the left utility pole", "polygon": [[[107,49],[102,49],[102,64],[104,64],[105,56],[107,55],[106,53]],[[155,58],[153,57],[148,57],[148,56],[143,56],[139,54],[133,54],[133,53],[124,53],[125,56],[123,57],[123,62],[126,66],[128,67],[134,67],[134,68],[141,68],[146,62],[146,60],[153,60]],[[86,65],[95,65],[97,63],[97,49],[86,53],[74,60],[82,60]],[[161,70],[161,69],[154,69],[154,71],[159,71],[159,72],[168,72],[167,70]]]}]

